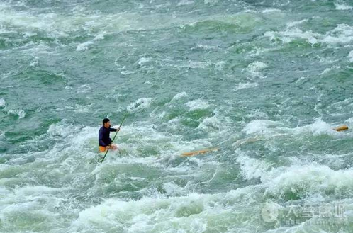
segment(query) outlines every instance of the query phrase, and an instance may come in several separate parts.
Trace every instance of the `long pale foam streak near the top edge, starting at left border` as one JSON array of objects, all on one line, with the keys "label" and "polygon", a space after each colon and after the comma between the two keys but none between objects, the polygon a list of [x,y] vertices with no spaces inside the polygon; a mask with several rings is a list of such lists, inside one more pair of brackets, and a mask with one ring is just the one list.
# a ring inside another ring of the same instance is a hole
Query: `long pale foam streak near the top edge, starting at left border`
[{"label": "long pale foam streak near the top edge, starting at left border", "polygon": [[[215,1],[216,0],[204,0],[205,4],[212,4]],[[179,3],[192,4],[192,0],[179,0]],[[170,4],[167,3],[160,6],[168,7]],[[138,4],[137,7],[144,7],[144,4]],[[172,15],[171,17],[169,13],[152,15],[131,13],[127,11],[121,13],[101,13],[100,11],[90,11],[84,7],[73,8],[72,13],[70,14],[35,14],[32,12],[33,11],[14,11],[11,6],[5,6],[4,8],[1,8],[0,25],[5,25],[4,30],[14,28],[16,31],[18,29],[28,35],[30,33],[37,33],[39,30],[47,33],[51,38],[57,38],[71,37],[80,30],[85,30],[87,33],[91,34],[99,30],[99,28],[104,28],[107,33],[117,33],[127,30],[151,30],[169,28],[170,26],[175,25],[183,26],[195,21],[195,17],[180,17],[180,15]],[[232,23],[234,23],[234,18],[237,18],[234,14],[219,14],[212,16],[199,16],[196,20],[232,21]],[[254,17],[248,17],[247,22],[250,20],[251,22],[254,22],[253,18]],[[101,37],[96,37],[96,39],[99,38]],[[91,46],[94,41],[95,40],[90,40],[77,45],[77,50],[82,51],[89,49],[89,46]]]}]

